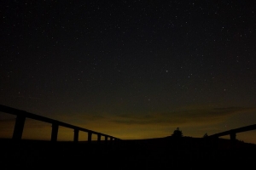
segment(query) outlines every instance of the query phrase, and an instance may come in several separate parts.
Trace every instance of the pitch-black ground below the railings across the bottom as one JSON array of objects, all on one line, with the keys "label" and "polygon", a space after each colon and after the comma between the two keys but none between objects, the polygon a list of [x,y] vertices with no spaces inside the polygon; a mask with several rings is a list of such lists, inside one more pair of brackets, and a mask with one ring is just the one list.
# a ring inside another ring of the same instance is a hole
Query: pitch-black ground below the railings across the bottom
[{"label": "pitch-black ground below the railings across the bottom", "polygon": [[0,139],[0,169],[253,169],[255,144],[148,139],[121,144]]}]

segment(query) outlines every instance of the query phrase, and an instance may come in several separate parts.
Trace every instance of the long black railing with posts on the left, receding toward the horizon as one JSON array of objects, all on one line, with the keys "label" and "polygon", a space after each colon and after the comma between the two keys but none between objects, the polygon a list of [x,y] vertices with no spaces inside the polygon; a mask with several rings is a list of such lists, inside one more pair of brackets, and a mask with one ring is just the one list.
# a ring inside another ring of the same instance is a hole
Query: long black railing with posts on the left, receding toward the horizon
[{"label": "long black railing with posts on the left, receding toward the horizon", "polygon": [[9,106],[5,106],[5,105],[0,105],[0,111],[1,112],[5,112],[5,113],[9,113],[12,115],[16,116],[16,120],[15,120],[15,129],[13,132],[13,137],[12,139],[16,139],[16,140],[20,140],[22,138],[22,133],[23,133],[23,128],[26,122],[26,118],[31,118],[34,120],[38,120],[41,122],[48,122],[52,124],[52,128],[51,128],[51,141],[55,142],[57,141],[57,137],[58,137],[58,130],[59,127],[68,127],[68,128],[72,128],[73,129],[73,141],[74,142],[78,142],[79,141],[79,131],[88,133],[88,143],[91,143],[91,136],[92,134],[96,134],[97,135],[97,142],[101,143],[101,139],[102,137],[105,137],[105,143],[108,143],[108,139],[110,140],[110,142],[115,141],[119,142],[121,139],[115,138],[113,136],[110,136],[108,134],[104,134],[104,133],[98,133],[83,127],[77,127],[71,124],[68,124],[66,122],[60,122],[54,119],[50,119],[48,117],[44,117],[44,116],[38,116],[26,111],[21,111],[15,108],[11,108]]}]

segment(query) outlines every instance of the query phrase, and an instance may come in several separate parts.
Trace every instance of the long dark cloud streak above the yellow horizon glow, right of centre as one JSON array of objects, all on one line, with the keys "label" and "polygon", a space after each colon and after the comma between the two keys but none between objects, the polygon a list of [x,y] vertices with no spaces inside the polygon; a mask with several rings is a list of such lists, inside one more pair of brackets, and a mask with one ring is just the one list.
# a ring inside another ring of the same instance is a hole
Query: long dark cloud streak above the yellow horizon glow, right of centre
[{"label": "long dark cloud streak above the yellow horizon glow, right of centre", "polygon": [[255,111],[256,108],[227,107],[227,108],[198,108],[183,109],[170,112],[154,112],[144,115],[122,115],[114,117],[112,122],[129,125],[180,125],[206,124],[222,122],[230,115],[239,112]]}]

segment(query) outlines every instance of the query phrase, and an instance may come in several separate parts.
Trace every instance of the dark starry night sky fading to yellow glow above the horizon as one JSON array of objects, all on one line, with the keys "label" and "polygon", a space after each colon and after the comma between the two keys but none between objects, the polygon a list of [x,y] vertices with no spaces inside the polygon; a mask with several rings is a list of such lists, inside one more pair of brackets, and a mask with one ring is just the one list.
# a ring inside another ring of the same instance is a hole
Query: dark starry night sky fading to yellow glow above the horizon
[{"label": "dark starry night sky fading to yellow glow above the horizon", "polygon": [[[255,1],[6,0],[0,8],[1,105],[120,139],[256,123]],[[15,116],[0,113],[0,122],[0,136],[11,136]],[[28,119],[23,138],[49,139],[50,128]],[[59,138],[72,140],[72,130]],[[256,132],[237,139],[256,143]]]}]

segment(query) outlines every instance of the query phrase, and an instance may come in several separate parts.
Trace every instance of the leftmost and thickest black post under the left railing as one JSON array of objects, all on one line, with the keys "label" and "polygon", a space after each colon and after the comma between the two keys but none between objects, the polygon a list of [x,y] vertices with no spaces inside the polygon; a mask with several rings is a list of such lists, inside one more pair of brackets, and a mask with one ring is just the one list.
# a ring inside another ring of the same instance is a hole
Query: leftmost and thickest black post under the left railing
[{"label": "leftmost and thickest black post under the left railing", "polygon": [[13,139],[20,140],[23,133],[23,128],[25,124],[26,116],[16,116],[16,122],[15,122],[15,130],[13,133]]}]

